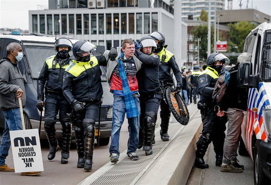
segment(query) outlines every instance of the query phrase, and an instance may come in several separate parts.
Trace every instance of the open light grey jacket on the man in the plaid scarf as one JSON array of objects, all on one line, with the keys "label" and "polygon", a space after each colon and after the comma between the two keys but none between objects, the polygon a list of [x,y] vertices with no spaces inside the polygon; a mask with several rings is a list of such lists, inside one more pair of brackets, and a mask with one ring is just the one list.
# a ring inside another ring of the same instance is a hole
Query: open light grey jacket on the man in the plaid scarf
[{"label": "open light grey jacket on the man in the plaid scarf", "polygon": [[[104,57],[106,58],[106,61],[108,61],[109,59],[109,50],[106,50],[104,52]],[[106,76],[108,79],[111,78],[112,74],[113,74],[113,70],[115,69],[115,67],[118,65],[119,61],[118,61],[118,58],[119,56],[121,55],[121,52],[122,52],[122,47],[117,47],[117,52],[118,52],[118,56],[116,57],[116,59],[114,61],[111,61],[109,59],[109,61],[107,62],[107,67],[106,67]],[[135,66],[136,66],[136,72],[138,72],[140,69],[141,69],[141,64],[142,62],[135,56],[133,55],[132,56],[134,61],[135,61]]]}]

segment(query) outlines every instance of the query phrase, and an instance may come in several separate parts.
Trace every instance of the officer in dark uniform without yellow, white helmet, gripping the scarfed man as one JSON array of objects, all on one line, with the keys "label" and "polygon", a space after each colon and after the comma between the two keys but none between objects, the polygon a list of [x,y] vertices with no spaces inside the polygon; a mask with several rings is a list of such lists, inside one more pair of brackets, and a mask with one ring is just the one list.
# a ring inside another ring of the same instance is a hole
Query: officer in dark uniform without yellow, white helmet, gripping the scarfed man
[{"label": "officer in dark uniform without yellow, white helmet, gripping the scarfed man", "polygon": [[[152,57],[146,59],[148,63],[143,63],[137,73],[141,109],[138,148],[142,148],[144,145],[143,150],[145,150],[146,155],[151,155],[157,112],[163,97],[159,82],[160,58],[158,55],[152,54],[153,50],[157,48],[152,37],[142,37],[139,44],[140,51]],[[146,55],[139,55],[139,59],[143,60],[141,58],[146,57]]]}]

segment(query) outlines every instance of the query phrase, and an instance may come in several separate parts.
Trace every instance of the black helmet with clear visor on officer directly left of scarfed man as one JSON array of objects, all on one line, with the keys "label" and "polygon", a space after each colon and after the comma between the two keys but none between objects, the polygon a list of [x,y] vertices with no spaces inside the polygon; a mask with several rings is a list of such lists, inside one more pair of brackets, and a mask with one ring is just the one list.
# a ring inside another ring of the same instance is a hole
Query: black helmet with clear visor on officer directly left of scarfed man
[{"label": "black helmet with clear visor on officer directly left of scarfed man", "polygon": [[77,60],[81,60],[83,53],[91,53],[94,52],[96,49],[96,46],[89,41],[86,40],[79,40],[75,42],[75,44],[72,47],[72,54]]}]

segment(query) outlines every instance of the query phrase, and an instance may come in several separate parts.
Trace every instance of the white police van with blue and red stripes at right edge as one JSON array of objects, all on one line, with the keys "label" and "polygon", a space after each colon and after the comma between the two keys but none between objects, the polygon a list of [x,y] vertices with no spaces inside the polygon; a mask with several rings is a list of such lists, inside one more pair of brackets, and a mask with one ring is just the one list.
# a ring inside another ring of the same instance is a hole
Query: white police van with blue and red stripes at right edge
[{"label": "white police van with blue and red stripes at right edge", "polygon": [[[270,185],[271,23],[264,22],[250,32],[243,52],[250,53],[252,59],[250,62],[241,62],[238,68],[238,86],[249,88],[242,139],[253,160],[254,184]],[[244,152],[241,146],[240,152]]]}]

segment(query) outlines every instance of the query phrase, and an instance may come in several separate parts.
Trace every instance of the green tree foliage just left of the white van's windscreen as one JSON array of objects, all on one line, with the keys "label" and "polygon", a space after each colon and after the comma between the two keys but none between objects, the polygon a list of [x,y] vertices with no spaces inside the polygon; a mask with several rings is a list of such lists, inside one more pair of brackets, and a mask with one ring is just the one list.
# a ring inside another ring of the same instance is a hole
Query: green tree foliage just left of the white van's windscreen
[{"label": "green tree foliage just left of the white van's windscreen", "polygon": [[245,38],[249,35],[250,31],[256,27],[256,25],[249,21],[240,21],[234,24],[230,23],[228,26],[230,27],[228,53],[242,53]]}]

